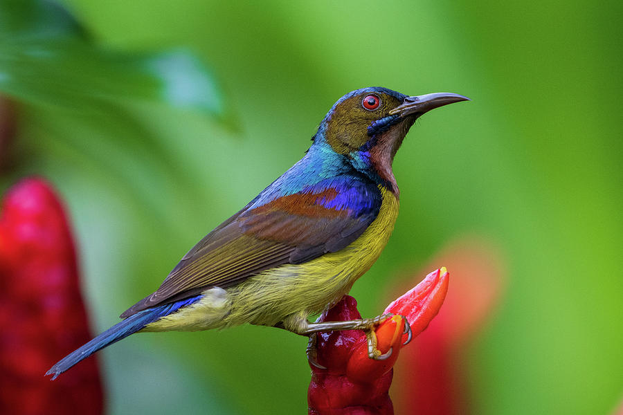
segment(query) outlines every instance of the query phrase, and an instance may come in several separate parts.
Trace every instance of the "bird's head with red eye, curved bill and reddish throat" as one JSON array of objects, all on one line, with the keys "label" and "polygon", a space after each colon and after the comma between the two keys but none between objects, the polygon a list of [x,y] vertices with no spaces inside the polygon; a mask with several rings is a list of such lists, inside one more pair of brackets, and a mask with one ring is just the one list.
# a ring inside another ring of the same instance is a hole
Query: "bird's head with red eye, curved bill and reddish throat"
[{"label": "bird's head with red eye, curved bill and reddish throat", "polygon": [[347,93],[329,110],[314,136],[359,171],[395,192],[392,161],[402,140],[422,114],[452,102],[469,100],[455,93],[409,96],[386,88]]}]

